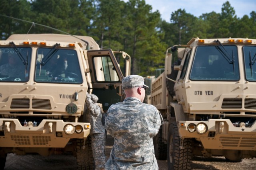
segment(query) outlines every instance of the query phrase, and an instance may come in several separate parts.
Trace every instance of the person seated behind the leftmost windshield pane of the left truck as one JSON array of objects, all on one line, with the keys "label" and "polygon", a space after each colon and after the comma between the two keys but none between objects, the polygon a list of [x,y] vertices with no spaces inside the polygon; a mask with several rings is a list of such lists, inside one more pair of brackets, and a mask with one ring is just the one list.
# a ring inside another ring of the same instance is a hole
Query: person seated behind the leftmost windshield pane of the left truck
[{"label": "person seated behind the leftmost windshield pane of the left truck", "polygon": [[[22,72],[24,73],[23,64],[16,53],[9,52],[7,56],[3,56],[8,59],[8,62],[0,66],[0,76],[22,78]],[[24,74],[23,74],[24,76]],[[17,80],[18,81],[18,80]]]}]

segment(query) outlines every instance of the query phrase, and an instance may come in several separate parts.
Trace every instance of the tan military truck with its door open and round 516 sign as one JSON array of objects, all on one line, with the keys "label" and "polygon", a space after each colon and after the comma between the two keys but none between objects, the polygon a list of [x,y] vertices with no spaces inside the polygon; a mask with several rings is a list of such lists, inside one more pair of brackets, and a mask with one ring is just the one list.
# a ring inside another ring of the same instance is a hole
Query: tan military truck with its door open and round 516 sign
[{"label": "tan military truck with its door open and round 516 sign", "polygon": [[0,40],[1,168],[8,153],[69,152],[78,170],[93,169],[86,92],[107,110],[124,98],[121,80],[129,74],[130,56],[102,50],[92,37],[13,34]]}]

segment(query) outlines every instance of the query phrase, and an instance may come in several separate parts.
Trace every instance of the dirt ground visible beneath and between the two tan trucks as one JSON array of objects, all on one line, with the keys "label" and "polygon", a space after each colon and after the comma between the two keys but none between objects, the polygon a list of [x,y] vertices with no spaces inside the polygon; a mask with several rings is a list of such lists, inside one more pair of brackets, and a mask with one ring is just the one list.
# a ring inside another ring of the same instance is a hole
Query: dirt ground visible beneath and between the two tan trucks
[{"label": "dirt ground visible beneath and between the two tan trucks", "polygon": [[[109,157],[113,139],[106,140],[106,155]],[[168,170],[166,160],[158,160],[159,170]],[[72,155],[25,155],[8,154],[4,170],[76,170],[76,158]],[[242,162],[226,162],[224,157],[195,157],[192,170],[256,170],[256,158]]]}]

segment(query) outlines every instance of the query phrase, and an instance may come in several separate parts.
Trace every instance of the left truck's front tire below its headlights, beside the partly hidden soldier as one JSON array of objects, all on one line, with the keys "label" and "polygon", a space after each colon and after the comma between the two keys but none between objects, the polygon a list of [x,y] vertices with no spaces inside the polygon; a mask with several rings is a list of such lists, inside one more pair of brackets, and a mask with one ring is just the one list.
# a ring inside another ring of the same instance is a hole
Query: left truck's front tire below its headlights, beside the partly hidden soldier
[{"label": "left truck's front tire below its headlights, beside the partly hidden soldier", "polygon": [[92,141],[90,136],[76,140],[76,165],[77,170],[94,170],[94,160],[92,156]]}]

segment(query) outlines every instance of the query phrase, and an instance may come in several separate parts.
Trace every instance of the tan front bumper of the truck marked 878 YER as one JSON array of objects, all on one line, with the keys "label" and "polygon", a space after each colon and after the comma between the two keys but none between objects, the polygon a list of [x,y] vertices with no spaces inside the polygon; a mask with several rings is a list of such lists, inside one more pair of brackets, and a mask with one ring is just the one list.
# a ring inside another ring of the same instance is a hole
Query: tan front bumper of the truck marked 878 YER
[{"label": "tan front bumper of the truck marked 878 YER", "polygon": [[[204,123],[207,131],[198,134],[189,132],[190,124]],[[196,138],[205,149],[256,150],[256,123],[251,127],[234,127],[229,119],[209,119],[208,121],[180,121],[179,134],[182,138]]]}]

